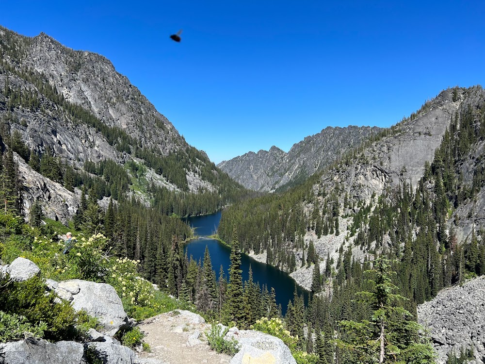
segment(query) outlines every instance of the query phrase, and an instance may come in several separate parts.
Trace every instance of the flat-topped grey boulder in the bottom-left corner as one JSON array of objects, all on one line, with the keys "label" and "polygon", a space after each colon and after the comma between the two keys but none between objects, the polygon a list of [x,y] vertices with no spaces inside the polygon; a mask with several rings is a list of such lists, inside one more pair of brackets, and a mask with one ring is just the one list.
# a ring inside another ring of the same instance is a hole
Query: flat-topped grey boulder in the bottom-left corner
[{"label": "flat-topped grey boulder in the bottom-left corner", "polygon": [[49,341],[28,338],[0,344],[1,364],[87,364],[84,347],[73,341]]}]

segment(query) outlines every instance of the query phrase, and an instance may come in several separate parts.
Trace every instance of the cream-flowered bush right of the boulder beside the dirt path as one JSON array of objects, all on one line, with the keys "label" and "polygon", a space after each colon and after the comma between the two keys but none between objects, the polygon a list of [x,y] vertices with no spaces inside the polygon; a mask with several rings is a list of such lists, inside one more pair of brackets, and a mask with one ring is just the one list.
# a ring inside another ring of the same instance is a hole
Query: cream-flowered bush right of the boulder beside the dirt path
[{"label": "cream-flowered bush right of the boulder beside the dirt path", "polygon": [[254,325],[251,325],[251,329],[279,337],[290,348],[291,355],[298,364],[316,364],[318,361],[317,355],[308,354],[306,351],[296,348],[298,336],[292,336],[290,331],[286,330],[286,325],[280,318],[261,317],[260,320],[256,320]]}]

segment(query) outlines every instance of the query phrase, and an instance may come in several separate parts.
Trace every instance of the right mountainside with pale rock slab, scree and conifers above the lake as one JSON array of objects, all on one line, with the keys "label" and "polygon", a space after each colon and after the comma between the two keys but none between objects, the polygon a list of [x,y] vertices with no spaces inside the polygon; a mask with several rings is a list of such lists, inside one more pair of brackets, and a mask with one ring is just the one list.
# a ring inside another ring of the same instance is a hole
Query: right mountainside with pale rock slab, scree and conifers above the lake
[{"label": "right mountainside with pale rock slab, scree and conifers above the lake", "polygon": [[[341,320],[370,318],[355,294],[371,289],[364,272],[376,256],[392,262],[392,283],[416,313],[443,287],[485,274],[484,109],[480,86],[443,91],[304,185],[226,209],[219,235],[235,228],[244,252],[323,292],[305,319],[327,338]],[[436,148],[412,150],[436,136]]]}]

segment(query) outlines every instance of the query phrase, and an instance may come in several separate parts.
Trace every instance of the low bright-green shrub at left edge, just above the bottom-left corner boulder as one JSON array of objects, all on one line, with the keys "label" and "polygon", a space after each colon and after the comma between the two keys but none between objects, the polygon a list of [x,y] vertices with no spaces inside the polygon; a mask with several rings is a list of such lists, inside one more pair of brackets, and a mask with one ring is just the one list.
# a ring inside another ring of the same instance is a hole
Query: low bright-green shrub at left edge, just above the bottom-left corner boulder
[{"label": "low bright-green shrub at left edge, just above the bottom-left corner boulder", "polygon": [[47,324],[43,321],[31,324],[25,316],[0,311],[0,343],[22,340],[27,332],[33,337],[43,337],[46,330]]}]

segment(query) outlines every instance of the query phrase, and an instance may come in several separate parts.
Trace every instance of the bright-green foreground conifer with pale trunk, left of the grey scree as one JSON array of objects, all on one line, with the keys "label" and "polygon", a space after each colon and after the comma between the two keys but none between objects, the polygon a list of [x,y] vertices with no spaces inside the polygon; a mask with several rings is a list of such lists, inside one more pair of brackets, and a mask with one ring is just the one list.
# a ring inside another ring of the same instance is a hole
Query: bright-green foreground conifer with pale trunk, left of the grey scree
[{"label": "bright-green foreground conifer with pale trunk, left of the grey scree", "polygon": [[371,319],[340,322],[337,345],[353,354],[346,363],[434,363],[434,349],[429,339],[420,335],[421,327],[413,315],[399,306],[404,297],[392,293],[397,287],[391,283],[390,269],[387,259],[378,258],[370,271],[375,276],[369,280],[372,291],[358,294],[361,303],[371,305]]}]

